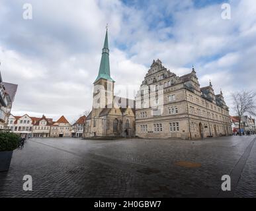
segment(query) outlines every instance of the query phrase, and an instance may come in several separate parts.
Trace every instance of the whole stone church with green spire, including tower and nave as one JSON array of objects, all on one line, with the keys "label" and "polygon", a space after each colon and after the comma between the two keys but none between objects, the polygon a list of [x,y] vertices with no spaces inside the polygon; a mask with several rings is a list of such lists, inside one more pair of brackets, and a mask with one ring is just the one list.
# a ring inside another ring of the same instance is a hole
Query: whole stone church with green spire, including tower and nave
[{"label": "whole stone church with green spire, including tower and nave", "polygon": [[93,106],[85,121],[84,136],[135,136],[135,100],[114,96],[110,76],[108,30],[99,74],[93,82]]}]

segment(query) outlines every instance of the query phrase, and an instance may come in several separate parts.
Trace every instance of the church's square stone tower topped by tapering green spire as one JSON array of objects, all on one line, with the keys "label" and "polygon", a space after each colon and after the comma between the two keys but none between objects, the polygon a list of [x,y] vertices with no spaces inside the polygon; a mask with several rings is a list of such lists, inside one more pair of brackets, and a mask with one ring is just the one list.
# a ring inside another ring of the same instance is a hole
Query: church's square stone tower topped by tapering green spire
[{"label": "church's square stone tower topped by tapering green spire", "polygon": [[114,98],[114,80],[110,76],[109,65],[109,49],[108,49],[108,29],[106,31],[105,42],[102,49],[101,65],[99,67],[99,74],[93,83],[93,109],[91,113],[91,131],[98,135],[97,128],[100,127],[99,117],[101,111],[106,108],[113,107]]}]

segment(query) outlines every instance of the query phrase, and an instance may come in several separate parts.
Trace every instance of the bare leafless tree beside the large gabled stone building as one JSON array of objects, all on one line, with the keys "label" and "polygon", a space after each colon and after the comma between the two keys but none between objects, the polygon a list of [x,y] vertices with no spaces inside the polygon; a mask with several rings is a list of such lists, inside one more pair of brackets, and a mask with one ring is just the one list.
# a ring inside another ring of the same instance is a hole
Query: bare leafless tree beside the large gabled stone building
[{"label": "bare leafless tree beside the large gabled stone building", "polygon": [[256,115],[255,97],[256,92],[254,91],[243,91],[232,94],[234,111],[239,120],[239,135],[241,135],[241,119],[243,115]]}]

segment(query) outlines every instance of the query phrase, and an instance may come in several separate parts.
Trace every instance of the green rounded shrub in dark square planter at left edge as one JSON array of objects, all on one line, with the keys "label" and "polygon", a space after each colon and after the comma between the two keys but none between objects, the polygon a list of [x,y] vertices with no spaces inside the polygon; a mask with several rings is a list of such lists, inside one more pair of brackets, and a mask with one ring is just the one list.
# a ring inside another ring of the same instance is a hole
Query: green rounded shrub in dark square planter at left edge
[{"label": "green rounded shrub in dark square planter at left edge", "polygon": [[0,171],[8,171],[13,150],[19,146],[19,136],[15,133],[0,133]]}]

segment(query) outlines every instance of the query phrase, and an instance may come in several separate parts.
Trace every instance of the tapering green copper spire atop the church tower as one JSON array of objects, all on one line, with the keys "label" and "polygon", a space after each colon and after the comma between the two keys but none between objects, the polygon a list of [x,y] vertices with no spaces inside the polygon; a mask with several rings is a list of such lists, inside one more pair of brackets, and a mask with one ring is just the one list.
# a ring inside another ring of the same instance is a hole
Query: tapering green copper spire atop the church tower
[{"label": "tapering green copper spire atop the church tower", "polygon": [[99,68],[99,75],[97,76],[95,82],[100,78],[114,80],[110,77],[110,66],[109,66],[109,49],[108,49],[108,29],[106,31],[105,42],[103,46],[103,53],[101,55],[101,65]]}]

